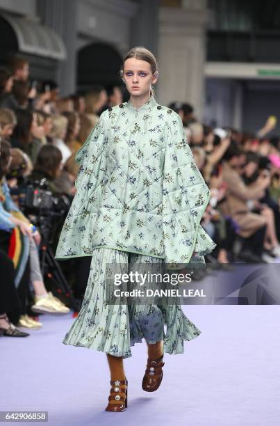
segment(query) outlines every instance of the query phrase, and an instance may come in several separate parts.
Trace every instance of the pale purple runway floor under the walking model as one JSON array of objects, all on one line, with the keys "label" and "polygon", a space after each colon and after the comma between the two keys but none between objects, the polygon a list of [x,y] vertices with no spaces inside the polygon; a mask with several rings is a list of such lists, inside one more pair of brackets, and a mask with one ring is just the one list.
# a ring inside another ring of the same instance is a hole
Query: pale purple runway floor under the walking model
[{"label": "pale purple runway floor under the walking model", "polygon": [[110,389],[106,356],[61,343],[74,320],[70,314],[41,315],[42,329],[31,336],[0,338],[0,410],[48,411],[51,426],[279,426],[279,306],[183,310],[201,335],[185,342],[184,354],[165,355],[155,393],[141,388],[145,342],[132,348],[124,361],[124,413],[104,411]]}]

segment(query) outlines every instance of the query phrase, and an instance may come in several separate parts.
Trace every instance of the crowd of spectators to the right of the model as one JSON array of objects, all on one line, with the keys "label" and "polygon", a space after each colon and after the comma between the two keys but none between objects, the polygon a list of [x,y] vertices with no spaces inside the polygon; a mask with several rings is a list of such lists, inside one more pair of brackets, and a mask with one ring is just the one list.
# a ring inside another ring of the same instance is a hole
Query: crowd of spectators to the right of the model
[{"label": "crowd of spectators to the right of the model", "polygon": [[280,136],[270,116],[255,134],[199,123],[190,104],[172,102],[211,199],[201,225],[217,244],[208,262],[279,262]]}]

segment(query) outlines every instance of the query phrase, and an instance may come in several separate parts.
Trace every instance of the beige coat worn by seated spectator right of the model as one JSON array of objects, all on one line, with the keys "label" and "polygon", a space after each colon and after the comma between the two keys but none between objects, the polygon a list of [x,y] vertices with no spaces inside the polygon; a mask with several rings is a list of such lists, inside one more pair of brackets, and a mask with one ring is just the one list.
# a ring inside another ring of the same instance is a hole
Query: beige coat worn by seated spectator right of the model
[{"label": "beige coat worn by seated spectator right of the model", "polygon": [[221,204],[223,214],[232,217],[240,227],[238,232],[242,237],[250,237],[267,221],[260,214],[251,213],[247,207],[248,200],[259,200],[265,195],[265,190],[258,187],[257,182],[246,185],[238,171],[234,170],[227,161],[223,163],[224,182],[227,183],[226,200]]}]

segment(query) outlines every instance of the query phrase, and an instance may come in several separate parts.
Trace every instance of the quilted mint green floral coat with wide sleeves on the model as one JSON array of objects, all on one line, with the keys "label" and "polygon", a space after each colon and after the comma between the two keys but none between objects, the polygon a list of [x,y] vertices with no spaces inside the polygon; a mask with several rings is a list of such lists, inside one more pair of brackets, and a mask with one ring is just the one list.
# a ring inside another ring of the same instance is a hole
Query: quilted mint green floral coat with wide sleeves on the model
[{"label": "quilted mint green floral coat with wide sleeves on the model", "polygon": [[76,153],[76,195],[56,259],[97,247],[204,263],[215,243],[201,227],[210,191],[177,113],[154,97],[109,108]]}]

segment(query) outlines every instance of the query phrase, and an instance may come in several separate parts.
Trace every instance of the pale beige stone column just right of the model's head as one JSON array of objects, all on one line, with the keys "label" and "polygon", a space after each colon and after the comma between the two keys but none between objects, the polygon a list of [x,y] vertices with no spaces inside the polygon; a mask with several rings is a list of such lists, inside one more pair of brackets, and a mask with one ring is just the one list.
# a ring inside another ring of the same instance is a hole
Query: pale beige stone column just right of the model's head
[{"label": "pale beige stone column just right of the model's head", "polygon": [[182,8],[160,8],[158,97],[162,104],[189,102],[201,120],[208,10],[205,0],[182,4]]}]

